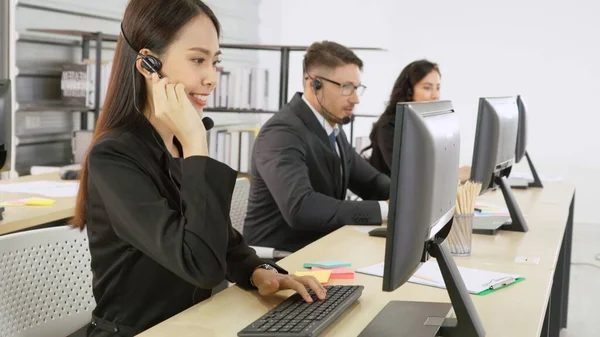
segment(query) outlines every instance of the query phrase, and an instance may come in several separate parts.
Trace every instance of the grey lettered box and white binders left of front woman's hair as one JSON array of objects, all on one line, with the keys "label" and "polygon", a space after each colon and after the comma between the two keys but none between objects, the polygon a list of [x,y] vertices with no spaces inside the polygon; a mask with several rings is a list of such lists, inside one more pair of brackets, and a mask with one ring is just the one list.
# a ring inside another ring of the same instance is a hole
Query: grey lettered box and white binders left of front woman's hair
[{"label": "grey lettered box and white binders left of front woman's hair", "polygon": [[[112,62],[101,63],[100,106],[106,98]],[[96,105],[96,62],[65,64],[60,80],[61,101],[68,106],[93,109]]]}]

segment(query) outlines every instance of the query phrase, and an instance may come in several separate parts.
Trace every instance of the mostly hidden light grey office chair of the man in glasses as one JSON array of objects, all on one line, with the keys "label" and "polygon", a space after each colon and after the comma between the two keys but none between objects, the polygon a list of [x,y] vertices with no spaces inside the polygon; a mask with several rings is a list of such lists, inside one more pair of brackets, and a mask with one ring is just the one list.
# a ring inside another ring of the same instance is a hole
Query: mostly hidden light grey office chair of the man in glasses
[{"label": "mostly hidden light grey office chair of the man in glasses", "polygon": [[[235,181],[233,189],[233,197],[231,198],[231,209],[229,217],[231,225],[238,232],[244,232],[244,219],[248,210],[248,195],[250,193],[250,181],[247,178],[238,178]],[[270,247],[251,246],[258,257],[269,260],[279,260],[288,255],[290,252],[275,250]]]}]

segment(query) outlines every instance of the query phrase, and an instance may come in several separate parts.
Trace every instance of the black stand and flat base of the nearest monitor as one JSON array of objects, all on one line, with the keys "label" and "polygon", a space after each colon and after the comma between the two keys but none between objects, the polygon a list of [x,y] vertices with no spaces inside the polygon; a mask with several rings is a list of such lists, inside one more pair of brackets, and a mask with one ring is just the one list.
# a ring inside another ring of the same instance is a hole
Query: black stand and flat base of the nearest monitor
[{"label": "black stand and flat base of the nearest monitor", "polygon": [[[450,296],[450,303],[390,301],[359,337],[483,337],[485,329],[443,238],[429,243]],[[454,308],[456,318],[449,318]]]}]

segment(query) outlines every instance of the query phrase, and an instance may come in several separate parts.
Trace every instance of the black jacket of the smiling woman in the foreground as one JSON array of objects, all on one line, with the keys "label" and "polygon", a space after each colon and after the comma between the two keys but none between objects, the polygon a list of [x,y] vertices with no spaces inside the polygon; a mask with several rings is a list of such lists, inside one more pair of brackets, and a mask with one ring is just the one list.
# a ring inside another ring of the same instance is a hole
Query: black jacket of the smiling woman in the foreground
[{"label": "black jacket of the smiling woman in the foreground", "polygon": [[208,157],[171,157],[145,119],[102,136],[87,160],[97,303],[88,336],[140,333],[225,278],[254,288],[250,276],[265,261],[231,226],[235,171]]}]

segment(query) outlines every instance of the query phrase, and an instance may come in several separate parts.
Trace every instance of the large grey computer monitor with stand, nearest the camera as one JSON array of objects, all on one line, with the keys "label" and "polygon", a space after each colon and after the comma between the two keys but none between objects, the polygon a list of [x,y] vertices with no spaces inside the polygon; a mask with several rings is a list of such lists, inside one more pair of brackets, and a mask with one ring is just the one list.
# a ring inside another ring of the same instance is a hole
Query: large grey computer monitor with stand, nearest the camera
[{"label": "large grey computer monitor with stand, nearest the camera", "polygon": [[[372,324],[391,325],[390,331],[404,331],[411,326],[429,332],[435,328],[443,336],[485,335],[444,242],[455,211],[459,153],[458,116],[450,101],[397,105],[383,290],[400,287],[422,262],[435,257],[457,319],[446,318],[448,303],[397,301],[390,302]],[[380,317],[393,318],[385,322]],[[436,320],[437,324],[431,324]],[[369,331],[373,335],[383,331],[381,327],[373,329]]]}]

